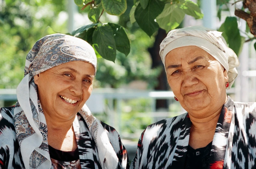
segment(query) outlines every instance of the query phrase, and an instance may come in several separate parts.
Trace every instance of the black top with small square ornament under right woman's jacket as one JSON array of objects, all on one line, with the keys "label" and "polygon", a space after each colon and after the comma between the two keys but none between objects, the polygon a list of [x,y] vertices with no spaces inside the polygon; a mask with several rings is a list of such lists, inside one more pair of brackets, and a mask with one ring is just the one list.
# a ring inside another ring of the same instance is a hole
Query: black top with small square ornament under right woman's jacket
[{"label": "black top with small square ornament under right woman's jacket", "polygon": [[206,169],[209,165],[208,159],[210,157],[211,146],[212,142],[206,147],[195,150],[189,145],[184,169]]}]

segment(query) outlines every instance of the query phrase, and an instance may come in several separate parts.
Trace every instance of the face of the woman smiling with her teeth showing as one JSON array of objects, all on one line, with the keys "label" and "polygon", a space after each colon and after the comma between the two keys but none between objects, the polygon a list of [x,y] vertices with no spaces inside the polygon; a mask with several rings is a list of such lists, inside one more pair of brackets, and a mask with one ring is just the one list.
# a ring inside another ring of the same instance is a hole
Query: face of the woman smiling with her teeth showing
[{"label": "face of the woman smiling with her teeth showing", "polygon": [[34,76],[44,113],[71,119],[92,93],[94,67],[84,61],[61,64]]}]

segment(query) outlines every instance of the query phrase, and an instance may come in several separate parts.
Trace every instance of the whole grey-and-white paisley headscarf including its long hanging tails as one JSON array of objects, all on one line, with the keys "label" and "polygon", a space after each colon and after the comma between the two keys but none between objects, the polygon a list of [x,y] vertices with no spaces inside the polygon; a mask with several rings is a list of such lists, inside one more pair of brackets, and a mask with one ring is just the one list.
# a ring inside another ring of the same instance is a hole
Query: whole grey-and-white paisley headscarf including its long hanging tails
[{"label": "whole grey-and-white paisley headscarf including its long hanging tails", "polygon": [[[51,167],[47,124],[33,77],[71,61],[85,61],[92,64],[94,75],[96,74],[97,58],[92,46],[73,36],[64,34],[45,36],[38,40],[27,54],[25,74],[17,87],[18,101],[14,108],[14,126],[26,169]],[[105,165],[116,166],[118,158],[99,120],[92,116],[86,105],[79,113],[84,117],[95,140],[101,165],[107,154]]]}]

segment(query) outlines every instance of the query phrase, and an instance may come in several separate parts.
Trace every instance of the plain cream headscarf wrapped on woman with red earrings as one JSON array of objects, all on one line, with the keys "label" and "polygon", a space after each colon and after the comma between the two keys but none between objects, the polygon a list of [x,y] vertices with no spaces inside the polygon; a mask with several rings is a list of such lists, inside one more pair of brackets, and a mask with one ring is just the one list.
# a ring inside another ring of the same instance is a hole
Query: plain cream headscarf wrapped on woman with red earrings
[{"label": "plain cream headscarf wrapped on woman with red earrings", "polygon": [[160,44],[160,56],[165,71],[165,57],[171,50],[183,46],[197,46],[212,55],[227,70],[229,82],[227,90],[230,89],[237,77],[235,67],[239,66],[239,61],[235,52],[227,47],[221,33],[202,26],[171,30]]}]

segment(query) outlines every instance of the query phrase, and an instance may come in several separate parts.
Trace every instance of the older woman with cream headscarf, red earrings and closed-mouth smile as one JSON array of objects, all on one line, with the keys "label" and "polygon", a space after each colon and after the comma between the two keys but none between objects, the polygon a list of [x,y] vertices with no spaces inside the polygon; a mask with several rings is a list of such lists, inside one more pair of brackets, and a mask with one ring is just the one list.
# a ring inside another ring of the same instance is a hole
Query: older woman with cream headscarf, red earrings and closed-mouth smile
[{"label": "older woman with cream headscarf, red earrings and closed-mouth smile", "polygon": [[256,103],[226,95],[239,62],[221,32],[172,30],[160,56],[175,99],[188,113],[148,126],[130,169],[256,168]]}]

